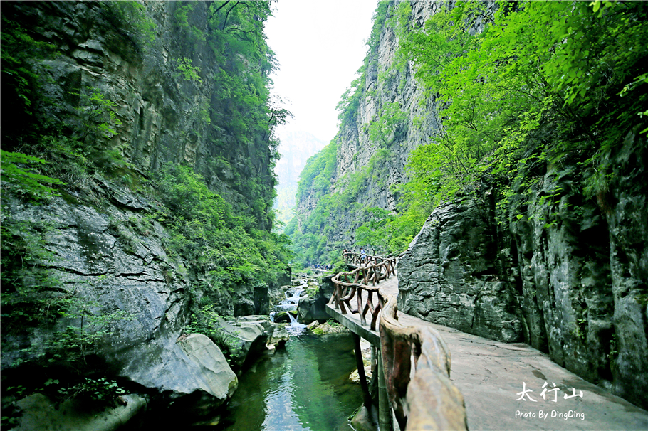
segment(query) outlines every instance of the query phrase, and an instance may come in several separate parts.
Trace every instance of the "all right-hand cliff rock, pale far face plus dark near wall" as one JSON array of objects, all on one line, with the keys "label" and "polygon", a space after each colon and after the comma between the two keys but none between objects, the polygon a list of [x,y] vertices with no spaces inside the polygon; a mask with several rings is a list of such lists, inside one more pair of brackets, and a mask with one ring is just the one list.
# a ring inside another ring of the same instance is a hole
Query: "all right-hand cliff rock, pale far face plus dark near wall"
[{"label": "all right-hand cliff rock, pale far face plus dark near wall", "polygon": [[[451,5],[413,1],[410,6],[407,27],[421,28],[429,16]],[[470,21],[467,33],[481,33],[484,22],[492,19],[496,6],[482,6],[483,15]],[[397,186],[408,180],[409,154],[434,141],[439,130],[449,129],[448,118],[438,113],[444,107],[414,79],[412,63],[396,55],[396,14],[397,7],[387,2],[377,9],[365,68],[353,84],[355,92],[341,102],[335,146],[305,168],[315,172],[300,184],[298,215],[288,229],[310,260],[336,260],[341,248],[359,239],[358,226],[380,213],[369,208],[399,211]],[[591,11],[583,16],[587,14]],[[615,100],[619,90],[607,97]],[[583,124],[591,124],[578,138],[555,132],[560,124],[550,115],[535,130],[537,136],[528,137],[524,156],[541,147],[555,151],[555,158],[521,168],[515,180],[493,180],[499,177],[484,169],[481,178],[466,180],[456,199],[434,209],[399,261],[399,309],[491,339],[525,341],[565,368],[645,406],[648,236],[645,211],[639,209],[645,208],[647,196],[640,179],[647,143],[639,131],[645,126],[627,127],[639,120],[625,122],[620,138],[597,152],[600,166],[610,169],[609,181],[590,198],[584,179],[592,172],[583,166],[594,147],[588,147],[594,139],[587,133],[595,129],[595,121],[588,116],[597,114],[585,109],[579,115]],[[466,124],[479,129],[468,120]],[[561,139],[587,143],[565,154]],[[459,171],[466,169],[461,152],[453,156]],[[436,193],[434,186],[433,177],[430,195]],[[505,187],[512,198],[498,194]],[[380,218],[365,226],[381,229],[385,220],[397,220]]]}]

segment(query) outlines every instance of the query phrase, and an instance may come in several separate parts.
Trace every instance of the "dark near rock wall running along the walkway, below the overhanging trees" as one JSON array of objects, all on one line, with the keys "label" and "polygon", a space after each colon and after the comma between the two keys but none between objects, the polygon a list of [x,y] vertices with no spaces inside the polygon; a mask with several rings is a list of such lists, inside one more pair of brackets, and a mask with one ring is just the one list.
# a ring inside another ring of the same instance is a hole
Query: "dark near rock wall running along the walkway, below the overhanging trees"
[{"label": "dark near rock wall running along the walkway, below the overhanging trees", "polygon": [[[617,174],[597,201],[578,168],[548,169],[531,201],[499,214],[488,200],[440,205],[399,261],[399,309],[500,341],[647,406],[647,139],[607,154]],[[546,203],[560,189],[555,203]]]}]

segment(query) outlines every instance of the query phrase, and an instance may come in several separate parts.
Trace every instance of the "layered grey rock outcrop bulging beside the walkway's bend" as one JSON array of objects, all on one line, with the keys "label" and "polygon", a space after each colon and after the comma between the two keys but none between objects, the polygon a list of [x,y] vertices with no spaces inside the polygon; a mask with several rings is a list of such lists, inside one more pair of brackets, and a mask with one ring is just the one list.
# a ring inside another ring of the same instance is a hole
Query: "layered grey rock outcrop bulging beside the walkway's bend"
[{"label": "layered grey rock outcrop bulging beside the walkway's bend", "polygon": [[399,310],[486,338],[521,341],[515,284],[500,278],[490,229],[472,201],[437,207],[398,262]]}]

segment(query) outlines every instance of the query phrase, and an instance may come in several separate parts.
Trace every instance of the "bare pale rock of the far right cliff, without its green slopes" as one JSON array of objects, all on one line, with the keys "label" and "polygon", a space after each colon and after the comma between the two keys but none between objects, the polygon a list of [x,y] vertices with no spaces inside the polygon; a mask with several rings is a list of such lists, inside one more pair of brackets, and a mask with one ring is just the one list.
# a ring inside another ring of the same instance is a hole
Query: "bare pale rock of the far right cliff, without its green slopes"
[{"label": "bare pale rock of the far right cliff, without its green slopes", "polygon": [[[395,6],[395,2],[388,5],[387,16],[394,12]],[[442,6],[432,0],[412,1],[409,19],[423,23],[439,7]],[[328,225],[334,227],[327,233],[330,244],[352,244],[353,231],[360,225],[358,220],[361,220],[362,208],[396,210],[397,193],[391,186],[402,183],[406,178],[405,164],[409,151],[426,143],[429,136],[439,129],[438,119],[434,115],[434,97],[424,95],[423,89],[414,80],[412,65],[394,65],[398,47],[394,28],[384,22],[375,26],[380,36],[367,53],[367,73],[362,76],[364,80],[359,85],[359,104],[352,118],[343,121],[335,137],[336,166],[330,179],[330,193],[345,192],[354,174],[366,171],[372,159],[379,157],[380,160],[354,196],[353,201],[358,205],[347,206],[328,217]],[[405,119],[385,137],[385,142],[371,139],[367,126],[377,122],[389,104],[397,104],[405,113]],[[298,201],[296,217],[299,230],[303,230],[305,220],[319,201],[315,191],[307,191]]]}]

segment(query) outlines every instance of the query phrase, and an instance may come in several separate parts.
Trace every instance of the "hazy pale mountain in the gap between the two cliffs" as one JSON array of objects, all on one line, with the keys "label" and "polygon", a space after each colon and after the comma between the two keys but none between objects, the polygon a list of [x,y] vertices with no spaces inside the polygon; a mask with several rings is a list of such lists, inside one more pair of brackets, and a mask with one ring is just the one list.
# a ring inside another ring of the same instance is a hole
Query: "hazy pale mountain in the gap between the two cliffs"
[{"label": "hazy pale mountain in the gap between the two cliffs", "polygon": [[[294,215],[299,174],[308,158],[323,149],[326,143],[308,132],[282,132],[279,139],[281,159],[275,166],[279,183],[274,208],[279,211],[278,221],[288,223]],[[283,227],[280,226],[279,230]]]}]

